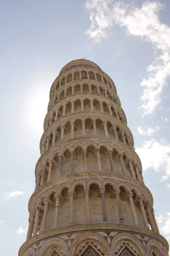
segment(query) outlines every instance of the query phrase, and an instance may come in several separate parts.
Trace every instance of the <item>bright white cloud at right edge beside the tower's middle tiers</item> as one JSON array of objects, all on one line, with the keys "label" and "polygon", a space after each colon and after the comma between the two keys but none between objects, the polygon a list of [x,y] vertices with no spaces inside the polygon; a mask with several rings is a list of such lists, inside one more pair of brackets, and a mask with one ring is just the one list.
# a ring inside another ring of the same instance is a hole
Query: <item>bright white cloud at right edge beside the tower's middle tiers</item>
[{"label": "bright white cloud at right edge beside the tower's middle tiers", "polygon": [[161,177],[161,181],[170,177],[170,144],[166,144],[164,140],[144,141],[141,147],[136,148],[136,153],[142,161],[143,170],[155,169],[156,172],[165,171],[165,175]]}]

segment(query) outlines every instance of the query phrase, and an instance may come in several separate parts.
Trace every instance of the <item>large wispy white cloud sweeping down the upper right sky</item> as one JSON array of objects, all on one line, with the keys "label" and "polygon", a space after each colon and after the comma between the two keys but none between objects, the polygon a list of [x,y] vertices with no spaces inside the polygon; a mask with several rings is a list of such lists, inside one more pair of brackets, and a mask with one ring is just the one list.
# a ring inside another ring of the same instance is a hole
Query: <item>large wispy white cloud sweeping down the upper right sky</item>
[{"label": "large wispy white cloud sweeping down the upper right sky", "polygon": [[85,7],[90,11],[91,20],[91,27],[85,34],[94,41],[106,37],[108,30],[117,24],[126,27],[130,35],[144,38],[159,51],[159,56],[147,67],[148,76],[141,82],[142,116],[153,113],[170,76],[170,27],[161,23],[158,16],[164,4],[146,1],[139,9],[114,0],[87,0]]}]

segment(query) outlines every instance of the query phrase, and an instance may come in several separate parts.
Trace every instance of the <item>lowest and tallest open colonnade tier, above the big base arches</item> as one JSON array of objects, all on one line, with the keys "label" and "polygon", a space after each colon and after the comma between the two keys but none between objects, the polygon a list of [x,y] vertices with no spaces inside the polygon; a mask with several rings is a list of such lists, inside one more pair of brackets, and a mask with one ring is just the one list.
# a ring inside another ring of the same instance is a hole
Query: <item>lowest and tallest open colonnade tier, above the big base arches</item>
[{"label": "lowest and tallest open colonnade tier, above the big base arches", "polygon": [[125,182],[118,175],[116,180],[114,175],[112,178],[103,177],[103,172],[93,177],[88,174],[70,176],[68,181],[59,183],[58,180],[57,185],[42,187],[29,203],[30,223],[35,219],[29,236],[69,224],[103,221],[134,224],[147,229],[149,224],[154,232],[159,233],[150,192],[138,182]]}]

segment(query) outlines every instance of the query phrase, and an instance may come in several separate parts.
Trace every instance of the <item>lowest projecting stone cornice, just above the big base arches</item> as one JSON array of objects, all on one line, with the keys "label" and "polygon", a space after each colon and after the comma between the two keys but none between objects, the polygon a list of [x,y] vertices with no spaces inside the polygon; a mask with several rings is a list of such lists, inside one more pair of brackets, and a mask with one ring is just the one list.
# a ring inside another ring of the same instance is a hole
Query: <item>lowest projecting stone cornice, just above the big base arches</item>
[{"label": "lowest projecting stone cornice, just above the big base arches", "polygon": [[31,247],[33,244],[42,241],[43,239],[51,238],[53,236],[61,236],[67,233],[76,233],[76,232],[97,232],[97,231],[116,231],[116,232],[126,232],[126,233],[137,233],[139,235],[150,237],[150,239],[155,239],[159,241],[161,244],[164,244],[167,251],[169,250],[169,244],[167,240],[159,235],[158,233],[146,229],[144,227],[138,227],[134,225],[127,225],[127,224],[111,224],[111,223],[88,223],[88,224],[77,224],[77,225],[70,225],[67,227],[58,227],[53,230],[44,231],[37,236],[32,237],[28,241],[26,241],[19,250],[18,256],[22,256],[23,252],[28,248]]}]

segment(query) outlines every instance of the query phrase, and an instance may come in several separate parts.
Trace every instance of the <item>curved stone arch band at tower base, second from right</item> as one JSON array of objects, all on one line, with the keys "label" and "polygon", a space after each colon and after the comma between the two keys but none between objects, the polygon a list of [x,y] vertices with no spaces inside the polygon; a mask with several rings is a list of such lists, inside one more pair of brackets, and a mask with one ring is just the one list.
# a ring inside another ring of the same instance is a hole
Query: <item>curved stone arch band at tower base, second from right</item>
[{"label": "curved stone arch band at tower base, second from right", "polygon": [[147,256],[146,250],[145,250],[142,242],[138,238],[136,238],[136,236],[133,236],[129,233],[119,233],[118,235],[116,235],[113,238],[113,240],[111,242],[111,252],[115,253],[116,244],[120,245],[121,241],[122,241],[122,244],[125,243],[126,241],[128,243],[134,244],[136,246],[136,248],[139,250],[140,256]]}]

